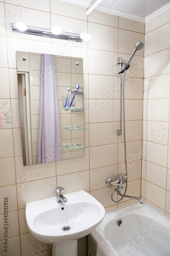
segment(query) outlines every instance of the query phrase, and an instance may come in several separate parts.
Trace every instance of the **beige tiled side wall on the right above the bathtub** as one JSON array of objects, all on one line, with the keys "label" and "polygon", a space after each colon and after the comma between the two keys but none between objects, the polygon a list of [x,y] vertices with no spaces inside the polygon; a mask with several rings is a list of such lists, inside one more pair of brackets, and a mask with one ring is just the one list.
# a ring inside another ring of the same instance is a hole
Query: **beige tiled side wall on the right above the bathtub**
[{"label": "beige tiled side wall on the right above the bathtub", "polygon": [[170,10],[145,24],[142,190],[145,202],[170,217]]}]

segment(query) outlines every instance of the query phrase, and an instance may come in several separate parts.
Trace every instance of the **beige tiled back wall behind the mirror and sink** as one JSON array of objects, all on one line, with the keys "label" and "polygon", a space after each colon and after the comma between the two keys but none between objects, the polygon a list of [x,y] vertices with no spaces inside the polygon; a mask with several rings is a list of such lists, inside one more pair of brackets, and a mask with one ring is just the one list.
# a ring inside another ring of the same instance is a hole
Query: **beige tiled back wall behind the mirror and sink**
[{"label": "beige tiled back wall behind the mirror and sink", "polygon": [[[8,254],[3,250],[1,229],[1,256],[40,256],[41,251],[43,255],[52,255],[51,245],[44,245],[31,236],[25,207],[28,202],[54,197],[57,185],[63,186],[65,193],[81,189],[88,191],[106,210],[133,202],[125,199],[118,205],[114,204],[111,200],[113,187],[107,187],[105,180],[109,176],[115,179],[117,172],[124,172],[123,138],[117,138],[116,134],[119,116],[117,57],[123,56],[127,61],[136,41],[144,41],[144,24],[99,11],[93,11],[87,17],[86,8],[59,0],[27,1],[24,5],[25,1],[0,0],[0,99],[10,102],[12,115],[12,129],[0,130],[0,218],[3,218],[4,197],[9,198],[11,216],[10,249]],[[89,32],[92,39],[80,44],[13,33],[11,23],[17,20],[41,28],[57,24],[63,31]],[[88,127],[85,143],[89,146],[85,157],[23,166],[16,51],[83,57],[85,124]],[[126,73],[125,96],[129,168],[127,193],[140,196],[143,50],[137,53]],[[85,254],[87,249],[81,247],[79,256]]]}]

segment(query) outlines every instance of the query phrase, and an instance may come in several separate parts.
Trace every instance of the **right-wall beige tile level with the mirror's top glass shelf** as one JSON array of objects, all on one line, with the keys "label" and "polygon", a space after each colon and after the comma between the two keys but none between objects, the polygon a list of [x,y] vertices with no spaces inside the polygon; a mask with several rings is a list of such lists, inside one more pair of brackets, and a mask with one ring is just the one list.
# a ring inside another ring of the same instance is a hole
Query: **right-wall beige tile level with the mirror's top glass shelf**
[{"label": "right-wall beige tile level with the mirror's top glass shelf", "polygon": [[168,122],[169,99],[143,100],[143,120]]}]

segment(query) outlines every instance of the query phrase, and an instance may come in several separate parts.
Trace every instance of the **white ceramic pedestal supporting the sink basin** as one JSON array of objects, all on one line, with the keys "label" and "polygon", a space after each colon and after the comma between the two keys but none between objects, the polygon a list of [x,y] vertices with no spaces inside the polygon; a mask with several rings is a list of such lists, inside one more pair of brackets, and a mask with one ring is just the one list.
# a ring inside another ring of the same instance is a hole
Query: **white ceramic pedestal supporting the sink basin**
[{"label": "white ceramic pedestal supporting the sink basin", "polygon": [[57,242],[53,244],[53,256],[77,256],[78,240]]}]

